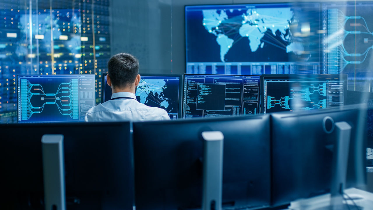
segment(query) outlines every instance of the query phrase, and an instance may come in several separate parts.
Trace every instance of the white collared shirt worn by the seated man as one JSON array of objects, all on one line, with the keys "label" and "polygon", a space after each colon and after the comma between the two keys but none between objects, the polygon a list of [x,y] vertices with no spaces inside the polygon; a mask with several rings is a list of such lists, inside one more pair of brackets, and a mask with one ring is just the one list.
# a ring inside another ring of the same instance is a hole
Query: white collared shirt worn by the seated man
[{"label": "white collared shirt worn by the seated man", "polygon": [[[128,97],[131,99],[119,98]],[[136,96],[129,92],[113,93],[112,99],[92,107],[85,114],[86,122],[108,121],[150,121],[170,120],[167,111],[157,107],[141,104]]]}]

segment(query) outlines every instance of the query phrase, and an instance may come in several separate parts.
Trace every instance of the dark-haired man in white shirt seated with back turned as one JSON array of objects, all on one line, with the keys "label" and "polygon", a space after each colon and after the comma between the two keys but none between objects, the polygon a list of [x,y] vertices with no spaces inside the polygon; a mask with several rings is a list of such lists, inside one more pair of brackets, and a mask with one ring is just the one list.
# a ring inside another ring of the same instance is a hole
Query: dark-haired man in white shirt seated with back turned
[{"label": "dark-haired man in white shirt seated with back turned", "polygon": [[110,58],[107,68],[106,81],[112,87],[112,99],[88,110],[86,122],[170,120],[166,110],[136,100],[141,79],[137,58],[119,53]]}]

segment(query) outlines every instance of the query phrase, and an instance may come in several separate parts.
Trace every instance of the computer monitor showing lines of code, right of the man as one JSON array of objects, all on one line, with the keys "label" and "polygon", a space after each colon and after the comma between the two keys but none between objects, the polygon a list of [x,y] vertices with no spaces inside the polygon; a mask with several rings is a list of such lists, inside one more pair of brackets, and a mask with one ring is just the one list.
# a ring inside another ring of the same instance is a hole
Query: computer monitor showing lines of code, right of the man
[{"label": "computer monitor showing lines of code, right of the man", "polygon": [[183,118],[259,113],[260,75],[184,74]]}]

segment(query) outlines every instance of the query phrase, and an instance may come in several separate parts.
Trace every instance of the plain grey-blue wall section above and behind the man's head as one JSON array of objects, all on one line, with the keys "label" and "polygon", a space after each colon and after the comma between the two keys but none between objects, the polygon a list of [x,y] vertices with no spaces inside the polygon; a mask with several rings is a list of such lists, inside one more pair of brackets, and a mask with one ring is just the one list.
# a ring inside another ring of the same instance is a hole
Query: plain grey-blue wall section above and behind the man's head
[{"label": "plain grey-blue wall section above and behind the man's head", "polygon": [[111,53],[127,52],[140,73],[171,72],[171,0],[111,0]]}]

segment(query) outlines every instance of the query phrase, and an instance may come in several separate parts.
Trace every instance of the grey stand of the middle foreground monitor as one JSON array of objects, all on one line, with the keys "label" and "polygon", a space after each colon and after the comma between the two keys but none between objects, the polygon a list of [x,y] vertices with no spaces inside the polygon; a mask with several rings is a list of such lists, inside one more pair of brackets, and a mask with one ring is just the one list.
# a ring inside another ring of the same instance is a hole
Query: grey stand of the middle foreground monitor
[{"label": "grey stand of the middle foreground monitor", "polygon": [[203,194],[202,210],[222,209],[223,133],[202,132]]}]

